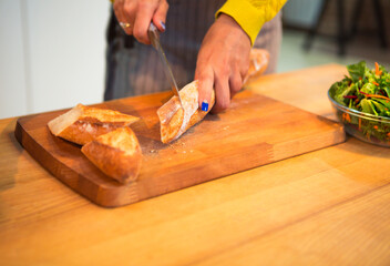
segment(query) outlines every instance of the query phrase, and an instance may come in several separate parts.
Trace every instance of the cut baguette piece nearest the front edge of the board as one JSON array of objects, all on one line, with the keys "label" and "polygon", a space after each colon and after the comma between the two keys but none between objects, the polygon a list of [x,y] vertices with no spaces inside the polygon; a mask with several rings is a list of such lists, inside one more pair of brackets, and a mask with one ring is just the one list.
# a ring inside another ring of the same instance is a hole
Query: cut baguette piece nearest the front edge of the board
[{"label": "cut baguette piece nearest the front edge of the board", "polygon": [[103,173],[122,184],[135,181],[140,173],[141,146],[127,126],[98,136],[81,152]]}]

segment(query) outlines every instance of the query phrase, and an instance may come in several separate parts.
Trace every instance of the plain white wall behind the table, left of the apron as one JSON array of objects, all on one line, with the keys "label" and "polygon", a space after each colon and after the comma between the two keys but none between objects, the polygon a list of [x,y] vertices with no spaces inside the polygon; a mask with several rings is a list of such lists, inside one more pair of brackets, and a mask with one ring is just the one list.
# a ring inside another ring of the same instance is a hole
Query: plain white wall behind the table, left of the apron
[{"label": "plain white wall behind the table, left of the apron", "polygon": [[109,0],[0,0],[0,119],[103,100]]}]

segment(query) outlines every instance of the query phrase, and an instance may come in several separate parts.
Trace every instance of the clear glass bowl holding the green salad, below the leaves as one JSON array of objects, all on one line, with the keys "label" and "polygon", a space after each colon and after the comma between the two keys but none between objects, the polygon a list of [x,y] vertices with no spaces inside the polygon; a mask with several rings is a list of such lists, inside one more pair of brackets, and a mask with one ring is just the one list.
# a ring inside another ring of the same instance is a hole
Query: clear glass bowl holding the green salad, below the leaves
[{"label": "clear glass bowl holding the green salad, below the leaves", "polygon": [[390,147],[390,119],[363,113],[343,106],[333,100],[333,90],[329,89],[328,98],[336,110],[338,120],[348,134],[376,145]]}]

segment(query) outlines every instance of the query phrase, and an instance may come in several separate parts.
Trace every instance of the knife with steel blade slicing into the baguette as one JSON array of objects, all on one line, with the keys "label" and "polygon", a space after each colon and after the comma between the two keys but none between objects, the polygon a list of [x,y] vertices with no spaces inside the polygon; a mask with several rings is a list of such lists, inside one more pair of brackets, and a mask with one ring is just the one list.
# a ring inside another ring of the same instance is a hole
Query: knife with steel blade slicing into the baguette
[{"label": "knife with steel blade slicing into the baguette", "polygon": [[152,45],[157,50],[160,59],[163,62],[163,69],[164,69],[166,78],[171,82],[172,92],[178,98],[181,106],[183,108],[183,103],[182,103],[181,94],[178,93],[175,76],[172,73],[168,60],[166,59],[165,52],[164,52],[163,47],[161,45],[161,42],[160,42],[158,29],[155,27],[155,24],[153,22],[148,27],[147,34],[148,34],[148,38],[151,39]]}]

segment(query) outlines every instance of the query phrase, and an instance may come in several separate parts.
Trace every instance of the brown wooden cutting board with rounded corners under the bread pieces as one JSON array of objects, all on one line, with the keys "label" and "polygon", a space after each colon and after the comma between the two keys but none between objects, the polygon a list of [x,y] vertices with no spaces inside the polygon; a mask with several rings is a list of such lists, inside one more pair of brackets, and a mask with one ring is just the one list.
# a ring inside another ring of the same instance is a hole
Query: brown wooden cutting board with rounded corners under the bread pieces
[{"label": "brown wooden cutting board with rounded corners under the bread pieces", "polygon": [[57,178],[105,207],[135,203],[346,139],[338,123],[244,91],[234,98],[228,111],[207,115],[179,140],[163,144],[156,111],[170,95],[158,93],[94,105],[141,117],[131,127],[142,146],[143,165],[138,180],[127,185],[105,176],[80,146],[50,133],[48,122],[68,110],[20,117],[16,136]]}]

